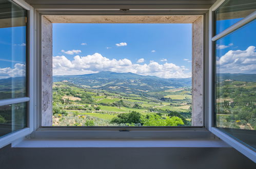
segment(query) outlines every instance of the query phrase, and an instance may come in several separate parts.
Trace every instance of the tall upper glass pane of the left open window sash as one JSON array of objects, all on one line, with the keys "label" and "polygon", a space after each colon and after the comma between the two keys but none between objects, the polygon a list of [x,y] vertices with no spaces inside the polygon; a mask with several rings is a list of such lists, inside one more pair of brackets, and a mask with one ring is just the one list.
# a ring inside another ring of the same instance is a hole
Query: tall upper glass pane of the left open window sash
[{"label": "tall upper glass pane of the left open window sash", "polygon": [[0,99],[26,96],[26,10],[0,1]]}]

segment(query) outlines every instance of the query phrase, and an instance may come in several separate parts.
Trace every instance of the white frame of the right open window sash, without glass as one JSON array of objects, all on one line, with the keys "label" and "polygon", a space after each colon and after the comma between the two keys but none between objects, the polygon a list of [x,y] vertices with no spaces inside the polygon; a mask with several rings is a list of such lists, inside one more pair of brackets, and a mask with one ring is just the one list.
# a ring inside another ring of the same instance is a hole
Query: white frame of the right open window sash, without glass
[{"label": "white frame of the right open window sash, without glass", "polygon": [[209,60],[208,60],[208,89],[211,93],[208,94],[208,113],[209,113],[209,131],[212,132],[217,137],[221,138],[223,141],[234,147],[234,149],[238,150],[240,153],[244,154],[246,157],[251,159],[252,161],[256,162],[256,152],[251,150],[249,147],[245,146],[243,143],[239,142],[238,140],[234,139],[227,133],[221,131],[220,129],[215,127],[214,124],[214,42],[225,35],[241,28],[242,26],[246,25],[247,23],[251,22],[256,18],[256,12],[251,13],[250,15],[246,16],[238,23],[230,26],[226,30],[220,32],[219,34],[213,35],[214,30],[214,11],[216,11],[226,0],[218,0],[213,4],[213,6],[209,9]]}]

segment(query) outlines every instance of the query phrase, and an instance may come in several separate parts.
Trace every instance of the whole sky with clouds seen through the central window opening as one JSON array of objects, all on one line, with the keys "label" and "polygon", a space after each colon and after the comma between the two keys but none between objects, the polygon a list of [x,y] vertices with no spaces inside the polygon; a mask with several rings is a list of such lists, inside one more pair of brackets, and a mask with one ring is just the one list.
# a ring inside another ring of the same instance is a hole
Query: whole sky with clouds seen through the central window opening
[{"label": "whole sky with clouds seen through the central window opening", "polygon": [[53,74],[191,77],[191,24],[53,24]]}]

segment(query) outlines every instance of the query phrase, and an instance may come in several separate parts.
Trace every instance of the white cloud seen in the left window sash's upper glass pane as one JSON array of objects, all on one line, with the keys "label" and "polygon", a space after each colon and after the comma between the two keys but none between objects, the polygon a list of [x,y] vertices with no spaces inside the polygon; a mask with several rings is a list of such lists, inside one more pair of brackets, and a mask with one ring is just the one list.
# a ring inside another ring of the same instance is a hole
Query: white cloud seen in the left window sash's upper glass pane
[{"label": "white cloud seen in the left window sash's upper glass pane", "polygon": [[26,65],[15,64],[14,68],[0,68],[0,79],[9,77],[21,77],[26,74]]}]

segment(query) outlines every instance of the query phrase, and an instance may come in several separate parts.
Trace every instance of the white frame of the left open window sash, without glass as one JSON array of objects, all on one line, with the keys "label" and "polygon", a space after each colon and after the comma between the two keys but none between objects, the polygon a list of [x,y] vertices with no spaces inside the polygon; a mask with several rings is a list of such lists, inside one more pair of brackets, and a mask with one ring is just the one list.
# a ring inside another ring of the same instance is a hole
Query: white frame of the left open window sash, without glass
[{"label": "white frame of the left open window sash, without glass", "polygon": [[0,100],[0,105],[27,102],[27,127],[14,131],[0,138],[0,148],[16,139],[23,138],[34,131],[34,9],[23,0],[12,0],[13,3],[27,10],[27,97]]}]

